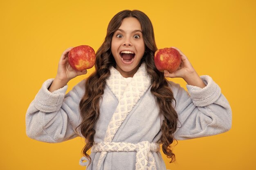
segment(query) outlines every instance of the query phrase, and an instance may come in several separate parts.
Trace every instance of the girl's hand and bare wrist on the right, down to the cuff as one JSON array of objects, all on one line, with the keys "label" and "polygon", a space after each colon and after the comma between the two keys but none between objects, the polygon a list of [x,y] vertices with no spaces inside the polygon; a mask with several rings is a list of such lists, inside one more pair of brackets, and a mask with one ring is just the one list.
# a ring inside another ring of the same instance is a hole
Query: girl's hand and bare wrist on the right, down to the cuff
[{"label": "girl's hand and bare wrist on the right, down to the cuff", "polygon": [[182,53],[182,51],[180,51],[180,49],[176,47],[172,46],[171,48],[179,51],[181,55],[181,63],[179,68],[173,73],[169,73],[169,71],[164,70],[164,76],[170,78],[180,77],[183,78],[189,85],[204,88],[206,85],[204,84],[198,73],[196,73],[195,69],[189,62],[189,59],[186,57],[186,55],[184,55],[184,53]]}]

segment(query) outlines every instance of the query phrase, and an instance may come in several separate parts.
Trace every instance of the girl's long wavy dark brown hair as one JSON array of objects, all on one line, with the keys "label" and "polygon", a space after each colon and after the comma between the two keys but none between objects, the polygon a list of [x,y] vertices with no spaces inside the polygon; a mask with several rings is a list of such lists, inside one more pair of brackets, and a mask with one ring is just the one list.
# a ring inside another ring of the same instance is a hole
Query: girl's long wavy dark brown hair
[{"label": "girl's long wavy dark brown hair", "polygon": [[[124,10],[117,13],[109,22],[107,35],[96,53],[95,72],[92,73],[85,83],[85,94],[79,104],[82,122],[77,128],[85,137],[85,146],[82,150],[83,155],[88,158],[89,164],[91,158],[87,151],[94,144],[94,125],[99,118],[99,100],[104,93],[106,79],[110,76],[110,67],[116,66],[115,59],[111,53],[112,36],[121,26],[122,20],[128,17],[135,17],[139,20],[142,29],[142,35],[145,43],[145,53],[141,62],[146,63],[146,70],[152,79],[151,93],[155,96],[159,114],[164,116],[161,125],[161,141],[162,150],[171,162],[175,161],[175,154],[171,150],[171,144],[175,140],[173,133],[177,128],[177,113],[172,106],[172,102],[176,101],[173,97],[173,92],[168,86],[169,83],[164,77],[164,73],[159,72],[154,63],[154,53],[157,51],[155,43],[155,35],[153,25],[148,16],[138,10]],[[76,128],[76,129],[77,129]]]}]

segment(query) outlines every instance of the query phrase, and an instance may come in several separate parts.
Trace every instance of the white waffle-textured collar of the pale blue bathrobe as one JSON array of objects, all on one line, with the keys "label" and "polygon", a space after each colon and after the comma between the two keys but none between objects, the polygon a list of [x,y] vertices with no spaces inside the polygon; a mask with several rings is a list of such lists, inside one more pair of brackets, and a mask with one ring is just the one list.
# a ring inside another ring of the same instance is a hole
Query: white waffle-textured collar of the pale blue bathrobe
[{"label": "white waffle-textured collar of the pale blue bathrobe", "polygon": [[106,80],[106,84],[119,102],[104,138],[105,142],[112,142],[127,115],[150,87],[151,79],[146,71],[146,64],[142,63],[128,85],[125,78],[114,67],[110,68],[110,77]]}]

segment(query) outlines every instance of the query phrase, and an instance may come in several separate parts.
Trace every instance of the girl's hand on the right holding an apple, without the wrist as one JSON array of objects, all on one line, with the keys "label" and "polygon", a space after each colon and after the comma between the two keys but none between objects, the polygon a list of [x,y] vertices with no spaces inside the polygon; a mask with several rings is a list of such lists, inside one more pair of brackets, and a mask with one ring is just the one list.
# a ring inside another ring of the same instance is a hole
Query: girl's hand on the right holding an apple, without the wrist
[{"label": "girl's hand on the right holding an apple, without the wrist", "polygon": [[189,59],[186,57],[186,55],[184,55],[180,49],[177,49],[176,47],[171,47],[173,49],[176,49],[177,51],[179,51],[180,55],[181,55],[181,63],[179,68],[173,72],[173,73],[169,73],[169,71],[164,71],[164,76],[165,77],[170,77],[170,78],[175,78],[175,77],[180,77],[185,79],[186,77],[189,77],[189,75],[193,75],[195,74],[195,69],[193,68],[193,66],[191,65],[191,63],[189,62]]}]

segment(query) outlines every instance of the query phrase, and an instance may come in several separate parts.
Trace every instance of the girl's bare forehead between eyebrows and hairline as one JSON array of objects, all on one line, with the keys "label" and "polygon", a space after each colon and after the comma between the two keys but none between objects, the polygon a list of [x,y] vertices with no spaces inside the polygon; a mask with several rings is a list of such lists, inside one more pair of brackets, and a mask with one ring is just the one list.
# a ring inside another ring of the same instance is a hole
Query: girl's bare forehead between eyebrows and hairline
[{"label": "girl's bare forehead between eyebrows and hairline", "polygon": [[139,20],[134,17],[124,18],[119,29],[122,30],[141,30]]}]

